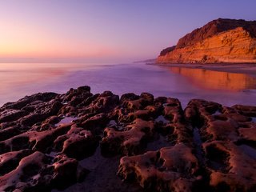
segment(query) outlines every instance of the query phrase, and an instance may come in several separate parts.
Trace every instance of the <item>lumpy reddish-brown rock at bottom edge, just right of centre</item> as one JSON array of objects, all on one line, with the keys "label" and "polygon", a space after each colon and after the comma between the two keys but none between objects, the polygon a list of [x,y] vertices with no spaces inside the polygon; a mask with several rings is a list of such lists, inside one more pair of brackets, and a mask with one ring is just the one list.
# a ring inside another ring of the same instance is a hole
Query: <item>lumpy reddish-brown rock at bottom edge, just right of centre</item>
[{"label": "lumpy reddish-brown rock at bottom edge, just right of centre", "polygon": [[184,144],[123,157],[118,174],[135,179],[143,188],[154,191],[192,191],[198,182],[198,160]]}]

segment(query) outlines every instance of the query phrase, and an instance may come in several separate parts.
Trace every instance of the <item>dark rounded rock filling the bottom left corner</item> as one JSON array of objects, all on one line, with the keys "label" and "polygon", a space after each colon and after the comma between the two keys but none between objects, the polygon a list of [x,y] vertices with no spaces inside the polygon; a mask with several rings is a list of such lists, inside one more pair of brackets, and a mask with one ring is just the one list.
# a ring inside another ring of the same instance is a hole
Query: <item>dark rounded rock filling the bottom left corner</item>
[{"label": "dark rounded rock filling the bottom left corner", "polygon": [[78,162],[58,155],[52,159],[41,152],[22,158],[18,167],[0,177],[2,191],[50,191],[51,187],[62,189],[77,181]]}]

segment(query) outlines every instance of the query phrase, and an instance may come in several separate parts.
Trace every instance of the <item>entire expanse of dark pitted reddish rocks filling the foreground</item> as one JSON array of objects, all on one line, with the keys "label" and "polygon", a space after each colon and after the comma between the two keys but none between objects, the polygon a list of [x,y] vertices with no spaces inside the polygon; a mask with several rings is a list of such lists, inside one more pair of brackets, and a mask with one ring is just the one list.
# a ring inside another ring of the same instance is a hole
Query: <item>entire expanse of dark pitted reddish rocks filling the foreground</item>
[{"label": "entire expanse of dark pitted reddish rocks filling the foreground", "polygon": [[255,117],[89,86],[26,96],[0,108],[0,191],[255,191]]}]

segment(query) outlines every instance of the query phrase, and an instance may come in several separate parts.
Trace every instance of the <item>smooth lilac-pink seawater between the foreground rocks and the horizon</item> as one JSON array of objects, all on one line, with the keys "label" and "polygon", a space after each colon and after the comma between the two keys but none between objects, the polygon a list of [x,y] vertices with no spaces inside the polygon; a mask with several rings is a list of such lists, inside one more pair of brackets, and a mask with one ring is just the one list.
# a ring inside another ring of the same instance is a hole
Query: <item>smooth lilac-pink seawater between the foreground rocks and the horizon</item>
[{"label": "smooth lilac-pink seawater between the foreground rocks and the horizon", "polygon": [[65,93],[71,87],[88,85],[92,93],[150,92],[179,98],[185,106],[192,98],[234,104],[256,105],[256,78],[202,69],[152,66],[66,63],[0,63],[0,105],[26,95],[52,91]]}]

